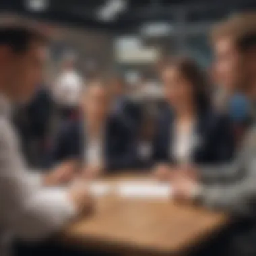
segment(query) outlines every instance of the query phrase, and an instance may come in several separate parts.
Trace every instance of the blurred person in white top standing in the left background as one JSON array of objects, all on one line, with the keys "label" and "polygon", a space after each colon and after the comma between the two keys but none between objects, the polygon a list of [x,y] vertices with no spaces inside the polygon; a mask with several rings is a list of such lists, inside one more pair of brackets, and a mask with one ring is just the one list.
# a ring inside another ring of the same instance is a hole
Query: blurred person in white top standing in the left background
[{"label": "blurred person in white top standing in the left background", "polygon": [[53,88],[53,99],[59,108],[61,120],[70,120],[79,113],[79,96],[84,81],[75,69],[76,57],[69,53],[63,59],[62,70]]}]

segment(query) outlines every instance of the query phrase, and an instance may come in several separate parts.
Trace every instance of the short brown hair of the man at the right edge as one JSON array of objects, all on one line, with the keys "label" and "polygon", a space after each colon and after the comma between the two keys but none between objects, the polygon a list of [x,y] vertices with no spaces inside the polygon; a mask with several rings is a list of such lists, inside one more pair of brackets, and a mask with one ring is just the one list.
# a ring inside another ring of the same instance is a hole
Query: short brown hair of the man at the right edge
[{"label": "short brown hair of the man at the right edge", "polygon": [[214,26],[210,34],[214,43],[220,38],[230,38],[238,51],[247,51],[256,46],[256,13],[234,15]]}]

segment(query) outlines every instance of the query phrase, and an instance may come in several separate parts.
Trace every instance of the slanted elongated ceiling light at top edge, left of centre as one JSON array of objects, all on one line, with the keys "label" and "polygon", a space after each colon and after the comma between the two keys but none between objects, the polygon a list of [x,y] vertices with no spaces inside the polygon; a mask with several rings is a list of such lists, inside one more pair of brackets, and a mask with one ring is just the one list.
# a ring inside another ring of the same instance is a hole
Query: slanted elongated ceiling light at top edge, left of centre
[{"label": "slanted elongated ceiling light at top edge, left of centre", "polygon": [[100,20],[110,21],[117,18],[117,15],[125,11],[127,1],[125,0],[109,0],[106,5],[100,7],[97,16]]}]

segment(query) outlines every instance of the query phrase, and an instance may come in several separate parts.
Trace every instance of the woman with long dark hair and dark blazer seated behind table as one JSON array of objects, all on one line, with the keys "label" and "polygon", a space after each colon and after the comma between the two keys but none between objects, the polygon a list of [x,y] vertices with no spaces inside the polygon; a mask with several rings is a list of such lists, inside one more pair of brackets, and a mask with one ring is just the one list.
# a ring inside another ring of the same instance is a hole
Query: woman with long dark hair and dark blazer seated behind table
[{"label": "woman with long dark hair and dark blazer seated behind table", "polygon": [[162,72],[168,108],[154,141],[155,169],[166,177],[176,165],[216,164],[231,160],[234,138],[229,119],[210,104],[204,73],[193,59],[173,59]]}]

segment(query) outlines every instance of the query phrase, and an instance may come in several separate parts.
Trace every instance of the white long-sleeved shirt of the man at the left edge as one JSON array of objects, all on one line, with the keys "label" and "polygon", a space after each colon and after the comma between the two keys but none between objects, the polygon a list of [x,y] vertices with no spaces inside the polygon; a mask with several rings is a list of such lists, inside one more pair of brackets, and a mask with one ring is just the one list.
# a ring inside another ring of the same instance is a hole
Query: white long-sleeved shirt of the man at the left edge
[{"label": "white long-sleeved shirt of the man at the left edge", "polygon": [[[9,121],[10,105],[0,96],[0,255],[6,237],[25,241],[57,232],[77,212],[62,189],[44,187],[26,168],[18,137]],[[5,248],[4,248],[5,246]]]}]

